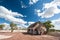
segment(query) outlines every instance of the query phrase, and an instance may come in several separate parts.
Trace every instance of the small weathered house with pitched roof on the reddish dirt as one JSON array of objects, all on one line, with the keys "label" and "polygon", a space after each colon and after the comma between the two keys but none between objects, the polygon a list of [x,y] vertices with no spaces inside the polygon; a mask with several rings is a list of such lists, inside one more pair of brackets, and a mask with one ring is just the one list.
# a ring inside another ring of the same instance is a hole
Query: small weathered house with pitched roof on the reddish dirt
[{"label": "small weathered house with pitched roof on the reddish dirt", "polygon": [[44,26],[43,23],[41,23],[39,21],[39,22],[36,22],[34,24],[31,24],[28,27],[27,33],[29,33],[29,34],[40,34],[40,35],[42,35],[42,34],[45,34],[46,33],[46,27]]}]

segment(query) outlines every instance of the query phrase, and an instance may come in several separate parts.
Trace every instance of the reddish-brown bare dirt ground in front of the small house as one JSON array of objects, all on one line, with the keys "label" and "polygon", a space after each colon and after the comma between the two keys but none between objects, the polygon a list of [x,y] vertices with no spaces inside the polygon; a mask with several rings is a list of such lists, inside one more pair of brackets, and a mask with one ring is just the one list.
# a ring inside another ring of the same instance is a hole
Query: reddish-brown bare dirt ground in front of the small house
[{"label": "reddish-brown bare dirt ground in front of the small house", "polygon": [[13,35],[11,38],[2,39],[2,40],[59,40],[56,36],[50,36],[50,35],[29,35],[29,34],[23,34],[20,32],[14,32],[14,33],[0,33],[1,35]]}]

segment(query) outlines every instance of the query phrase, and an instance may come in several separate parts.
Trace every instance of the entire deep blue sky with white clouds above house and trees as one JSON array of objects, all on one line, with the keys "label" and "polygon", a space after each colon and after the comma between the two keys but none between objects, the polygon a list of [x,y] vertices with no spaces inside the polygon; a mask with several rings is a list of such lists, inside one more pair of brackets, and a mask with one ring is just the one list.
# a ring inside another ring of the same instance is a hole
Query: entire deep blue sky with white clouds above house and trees
[{"label": "entire deep blue sky with white clouds above house and trees", "polygon": [[60,29],[60,0],[0,0],[0,23],[28,26],[46,20]]}]

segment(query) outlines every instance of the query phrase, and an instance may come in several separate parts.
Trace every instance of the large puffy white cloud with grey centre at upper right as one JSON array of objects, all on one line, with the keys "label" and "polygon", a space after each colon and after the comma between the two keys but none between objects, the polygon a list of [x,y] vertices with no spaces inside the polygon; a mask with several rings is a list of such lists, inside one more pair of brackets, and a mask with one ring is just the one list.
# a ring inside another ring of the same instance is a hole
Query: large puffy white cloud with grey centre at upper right
[{"label": "large puffy white cloud with grey centre at upper right", "polygon": [[43,4],[43,12],[37,12],[38,16],[42,18],[50,18],[53,17],[55,14],[60,13],[60,9],[57,7],[60,5],[60,0],[54,0],[50,3]]}]

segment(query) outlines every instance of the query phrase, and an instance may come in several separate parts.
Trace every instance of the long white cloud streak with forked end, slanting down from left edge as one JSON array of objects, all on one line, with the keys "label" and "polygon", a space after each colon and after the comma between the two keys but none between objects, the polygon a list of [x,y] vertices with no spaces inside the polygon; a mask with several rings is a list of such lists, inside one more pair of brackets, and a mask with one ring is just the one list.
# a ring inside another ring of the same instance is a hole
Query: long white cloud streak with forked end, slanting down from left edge
[{"label": "long white cloud streak with forked end, slanting down from left edge", "polygon": [[5,18],[6,20],[10,22],[19,23],[19,24],[26,23],[26,21],[24,21],[23,19],[15,18],[15,16],[24,17],[22,14],[18,12],[12,12],[3,6],[0,6],[0,18]]}]

